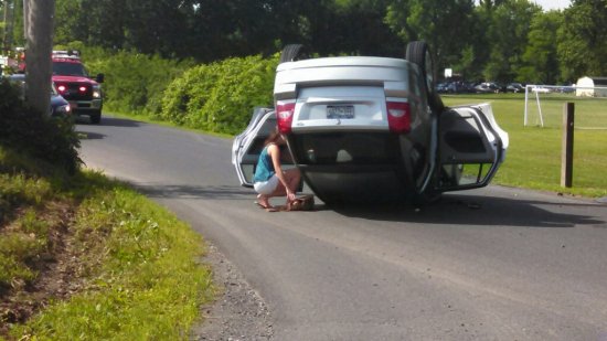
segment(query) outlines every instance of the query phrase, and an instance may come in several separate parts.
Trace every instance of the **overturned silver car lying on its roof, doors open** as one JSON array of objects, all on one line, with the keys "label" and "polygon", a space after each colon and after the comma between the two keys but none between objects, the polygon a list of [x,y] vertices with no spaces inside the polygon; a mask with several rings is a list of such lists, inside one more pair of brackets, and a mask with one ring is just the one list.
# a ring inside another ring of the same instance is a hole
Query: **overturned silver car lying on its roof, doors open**
[{"label": "overturned silver car lying on its roof, doors open", "polygon": [[242,185],[253,185],[264,140],[276,128],[303,181],[327,204],[428,202],[487,185],[503,162],[508,134],[491,106],[446,107],[425,42],[409,43],[405,58],[299,60],[300,50],[283,50],[275,108],[256,109],[234,139]]}]

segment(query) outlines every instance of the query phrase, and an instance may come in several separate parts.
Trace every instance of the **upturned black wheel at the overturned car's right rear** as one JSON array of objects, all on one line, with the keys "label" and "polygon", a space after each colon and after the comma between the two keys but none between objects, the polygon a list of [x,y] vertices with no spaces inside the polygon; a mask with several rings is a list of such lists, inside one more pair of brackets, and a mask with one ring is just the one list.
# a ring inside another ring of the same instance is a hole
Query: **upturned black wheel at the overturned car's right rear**
[{"label": "upturned black wheel at the overturned car's right rear", "polygon": [[428,44],[423,41],[411,42],[407,44],[405,58],[417,66],[422,72],[422,79],[426,87],[428,96],[428,105],[430,108],[440,113],[445,109],[445,105],[436,92],[436,78],[434,76],[434,62]]}]

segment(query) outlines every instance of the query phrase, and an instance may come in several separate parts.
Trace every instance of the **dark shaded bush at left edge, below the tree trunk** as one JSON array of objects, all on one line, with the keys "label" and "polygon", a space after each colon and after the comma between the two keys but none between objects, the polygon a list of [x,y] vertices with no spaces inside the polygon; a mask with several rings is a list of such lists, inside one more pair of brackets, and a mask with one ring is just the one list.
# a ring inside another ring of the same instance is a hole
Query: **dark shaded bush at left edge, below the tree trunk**
[{"label": "dark shaded bush at left edge, below the tree trunk", "polygon": [[0,82],[0,143],[74,173],[82,160],[79,140],[70,118],[51,118],[28,107],[17,89]]}]

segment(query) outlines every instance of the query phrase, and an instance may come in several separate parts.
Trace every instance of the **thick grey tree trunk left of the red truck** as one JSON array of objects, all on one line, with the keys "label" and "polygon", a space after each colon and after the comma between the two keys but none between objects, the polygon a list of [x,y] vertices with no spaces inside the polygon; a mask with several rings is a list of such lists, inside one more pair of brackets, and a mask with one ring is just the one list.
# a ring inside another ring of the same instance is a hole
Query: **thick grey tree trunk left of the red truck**
[{"label": "thick grey tree trunk left of the red truck", "polygon": [[55,0],[24,0],[25,31],[25,100],[40,113],[51,107],[51,54],[53,52],[53,17]]}]

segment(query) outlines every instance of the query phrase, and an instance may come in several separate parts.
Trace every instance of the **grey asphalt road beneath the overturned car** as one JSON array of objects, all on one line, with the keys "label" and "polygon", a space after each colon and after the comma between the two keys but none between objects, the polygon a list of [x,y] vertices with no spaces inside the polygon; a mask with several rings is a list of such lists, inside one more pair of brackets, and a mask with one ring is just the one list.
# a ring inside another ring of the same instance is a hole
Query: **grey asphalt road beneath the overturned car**
[{"label": "grey asphalt road beneath the overturned car", "polygon": [[268,213],[239,187],[232,140],[110,117],[77,130],[88,167],[242,271],[275,340],[607,340],[607,206],[594,201],[489,187],[423,209]]}]

